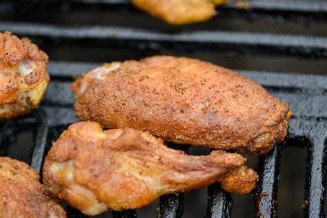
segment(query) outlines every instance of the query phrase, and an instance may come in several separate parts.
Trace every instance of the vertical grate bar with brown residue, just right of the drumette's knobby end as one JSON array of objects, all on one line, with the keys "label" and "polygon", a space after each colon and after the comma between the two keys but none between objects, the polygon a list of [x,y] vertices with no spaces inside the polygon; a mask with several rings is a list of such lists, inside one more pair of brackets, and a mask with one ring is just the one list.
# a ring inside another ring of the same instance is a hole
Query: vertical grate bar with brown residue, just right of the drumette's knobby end
[{"label": "vertical grate bar with brown residue, just right of the drumette's knobby end", "polygon": [[255,217],[276,217],[281,144],[260,157],[259,182],[255,190]]}]

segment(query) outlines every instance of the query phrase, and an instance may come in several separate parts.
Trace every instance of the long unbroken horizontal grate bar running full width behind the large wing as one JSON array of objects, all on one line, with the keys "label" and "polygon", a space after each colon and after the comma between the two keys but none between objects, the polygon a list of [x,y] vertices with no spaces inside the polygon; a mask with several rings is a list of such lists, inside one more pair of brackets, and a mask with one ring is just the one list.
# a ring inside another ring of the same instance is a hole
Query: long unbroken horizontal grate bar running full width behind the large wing
[{"label": "long unbroken horizontal grate bar running full width behind the large wing", "polygon": [[327,58],[327,37],[228,31],[188,31],[176,34],[113,26],[65,27],[46,24],[0,22],[0,31],[50,40],[52,43],[92,41],[98,46],[140,50],[215,50],[239,54],[291,55]]}]

